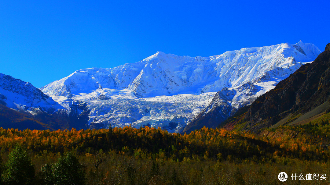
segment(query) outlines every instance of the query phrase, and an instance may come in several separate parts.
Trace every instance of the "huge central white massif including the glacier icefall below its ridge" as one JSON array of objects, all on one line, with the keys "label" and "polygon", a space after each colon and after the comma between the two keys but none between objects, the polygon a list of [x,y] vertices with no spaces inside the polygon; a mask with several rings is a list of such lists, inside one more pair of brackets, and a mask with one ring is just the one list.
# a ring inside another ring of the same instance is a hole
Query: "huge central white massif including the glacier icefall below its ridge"
[{"label": "huge central white massif including the glacier icefall below its ridge", "polygon": [[[89,123],[161,126],[179,132],[212,103],[216,92],[228,91],[228,96],[219,97],[237,109],[314,61],[320,52],[301,41],[211,57],[157,52],[115,68],[81,69],[41,90],[66,108],[71,100],[85,102]],[[247,84],[253,86],[251,91],[245,89]]]}]

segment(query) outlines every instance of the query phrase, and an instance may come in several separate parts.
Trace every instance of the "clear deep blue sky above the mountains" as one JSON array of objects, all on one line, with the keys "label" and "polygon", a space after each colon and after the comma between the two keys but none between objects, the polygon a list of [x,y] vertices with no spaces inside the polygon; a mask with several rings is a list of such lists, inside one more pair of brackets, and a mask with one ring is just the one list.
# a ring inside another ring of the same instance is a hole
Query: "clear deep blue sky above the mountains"
[{"label": "clear deep blue sky above the mountains", "polygon": [[212,56],[302,40],[330,42],[329,0],[0,3],[0,73],[36,87],[157,51]]}]

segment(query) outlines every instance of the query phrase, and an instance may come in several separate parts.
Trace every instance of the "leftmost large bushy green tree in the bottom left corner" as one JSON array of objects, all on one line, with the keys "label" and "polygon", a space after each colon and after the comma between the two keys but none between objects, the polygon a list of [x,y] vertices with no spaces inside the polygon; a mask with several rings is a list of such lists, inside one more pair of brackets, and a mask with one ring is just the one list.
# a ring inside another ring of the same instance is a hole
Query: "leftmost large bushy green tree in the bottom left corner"
[{"label": "leftmost large bushy green tree in the bottom left corner", "polygon": [[15,145],[8,155],[8,162],[2,174],[2,180],[8,185],[33,184],[34,165],[26,150],[20,145]]}]

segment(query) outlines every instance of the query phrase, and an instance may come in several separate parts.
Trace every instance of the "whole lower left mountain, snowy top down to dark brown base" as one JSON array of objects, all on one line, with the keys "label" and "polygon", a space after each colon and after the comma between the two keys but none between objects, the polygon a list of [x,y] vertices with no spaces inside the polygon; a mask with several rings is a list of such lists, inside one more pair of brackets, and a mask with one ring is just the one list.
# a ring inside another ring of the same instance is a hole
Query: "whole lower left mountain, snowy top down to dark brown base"
[{"label": "whole lower left mountain, snowy top down to dark brown base", "polygon": [[60,105],[28,82],[0,73],[0,126],[19,129],[86,128],[86,103],[62,96]]}]

